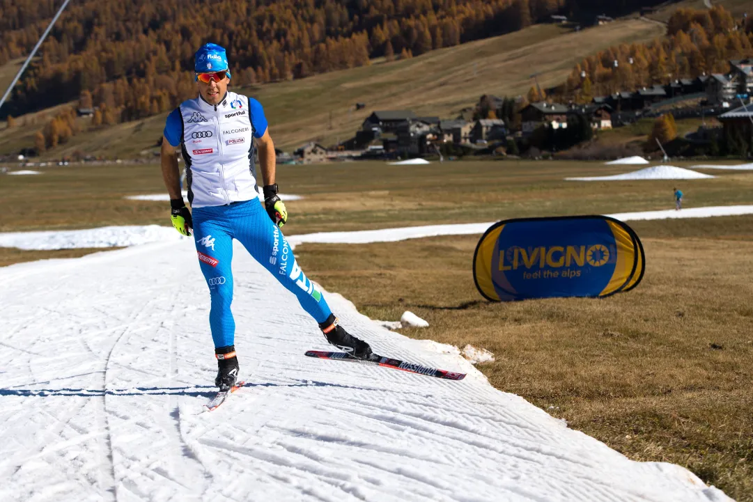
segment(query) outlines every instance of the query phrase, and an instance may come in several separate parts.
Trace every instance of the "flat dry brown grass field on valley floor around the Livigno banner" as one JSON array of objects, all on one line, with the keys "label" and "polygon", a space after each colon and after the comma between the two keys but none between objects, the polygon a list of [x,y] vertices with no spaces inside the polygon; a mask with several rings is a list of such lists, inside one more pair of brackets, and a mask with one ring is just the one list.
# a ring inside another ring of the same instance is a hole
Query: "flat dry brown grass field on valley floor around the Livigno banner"
[{"label": "flat dry brown grass field on valley floor around the Livigno banner", "polygon": [[[691,181],[572,182],[640,166],[465,161],[428,166],[280,166],[287,235],[502,218],[750,204],[753,172],[709,171]],[[168,225],[160,169],[67,166],[3,176],[0,231],[110,224]],[[479,369],[630,458],[670,461],[740,501],[753,501],[753,218],[630,222],[647,267],[634,291],[603,300],[489,303],[471,260],[479,236],[369,245],[301,245],[306,273],[372,318],[410,310],[429,321],[407,336],[487,348]],[[0,264],[99,250],[0,248]]]}]

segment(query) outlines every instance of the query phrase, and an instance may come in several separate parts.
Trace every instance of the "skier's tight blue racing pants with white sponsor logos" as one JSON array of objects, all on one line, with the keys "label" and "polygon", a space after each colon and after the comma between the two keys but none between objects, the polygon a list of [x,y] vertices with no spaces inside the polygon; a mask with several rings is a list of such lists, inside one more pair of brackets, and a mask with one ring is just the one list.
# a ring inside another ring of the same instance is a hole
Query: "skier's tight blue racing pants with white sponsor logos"
[{"label": "skier's tight blue racing pants with white sponsor logos", "polygon": [[235,321],[230,312],[233,301],[233,271],[230,268],[233,239],[239,240],[255,260],[288,288],[316,322],[327,320],[331,310],[322,291],[303,274],[295,262],[293,250],[272,223],[259,199],[196,208],[193,219],[201,272],[209,284],[212,297],[209,326],[215,348],[235,342]]}]

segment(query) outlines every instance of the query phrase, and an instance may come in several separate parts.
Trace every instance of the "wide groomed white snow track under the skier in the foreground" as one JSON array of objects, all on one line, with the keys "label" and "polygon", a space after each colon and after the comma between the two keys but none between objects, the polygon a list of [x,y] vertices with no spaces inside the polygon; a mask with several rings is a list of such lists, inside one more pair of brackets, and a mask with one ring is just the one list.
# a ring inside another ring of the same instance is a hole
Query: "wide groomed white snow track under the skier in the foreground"
[{"label": "wide groomed white snow track under the skier in the foreground", "polygon": [[240,246],[233,268],[248,386],[214,412],[191,242],[0,269],[0,500],[730,500],[569,430],[337,295],[343,325],[378,353],[468,376],[305,357],[328,345],[295,297]]}]

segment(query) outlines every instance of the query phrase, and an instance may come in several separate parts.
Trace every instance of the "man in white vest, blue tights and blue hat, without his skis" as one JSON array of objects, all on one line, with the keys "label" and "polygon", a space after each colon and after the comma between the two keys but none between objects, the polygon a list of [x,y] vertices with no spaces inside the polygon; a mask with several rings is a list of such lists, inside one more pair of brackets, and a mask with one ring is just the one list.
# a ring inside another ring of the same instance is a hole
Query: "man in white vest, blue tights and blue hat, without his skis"
[{"label": "man in white vest, blue tights and blue hat, without his skis", "polygon": [[[366,342],[337,324],[322,292],[303,274],[282,236],[288,211],[277,195],[275,148],[261,104],[227,90],[230,70],[219,45],[204,44],[197,51],[194,71],[199,97],[184,101],[167,117],[161,163],[172,225],[184,236],[191,236],[193,230],[200,269],[209,285],[209,326],[218,362],[215,385],[220,391],[229,390],[239,371],[230,312],[233,239],[295,294],[328,342],[358,359],[376,358]],[[178,145],[193,218],[180,191]],[[264,181],[264,205],[258,200],[255,148]]]}]

